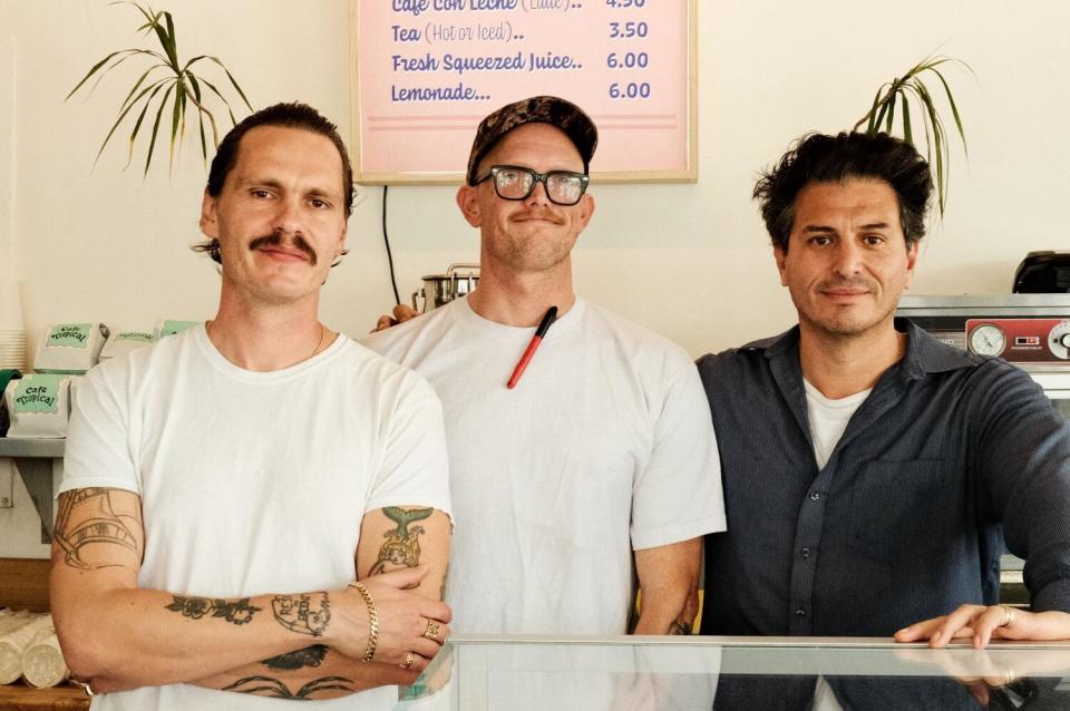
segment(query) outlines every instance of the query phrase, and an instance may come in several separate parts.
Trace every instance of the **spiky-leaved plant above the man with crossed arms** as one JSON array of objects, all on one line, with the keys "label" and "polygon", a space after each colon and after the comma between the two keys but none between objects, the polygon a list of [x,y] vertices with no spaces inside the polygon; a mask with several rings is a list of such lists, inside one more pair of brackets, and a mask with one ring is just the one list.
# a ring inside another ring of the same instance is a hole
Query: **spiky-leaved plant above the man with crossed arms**
[{"label": "spiky-leaved plant above the man with crossed arms", "polygon": [[[111,140],[111,137],[116,130],[118,130],[124,119],[128,116],[136,116],[137,118],[134,120],[129,134],[126,165],[128,167],[134,159],[134,147],[137,137],[139,134],[144,136],[142,128],[147,125],[146,119],[148,119],[148,123],[152,124],[152,132],[146,132],[148,133],[148,150],[145,155],[145,172],[143,174],[147,175],[148,168],[153,163],[153,154],[156,150],[160,124],[166,120],[164,113],[167,111],[171,114],[171,137],[168,142],[169,172],[174,168],[176,147],[179,152],[182,149],[183,139],[186,134],[186,119],[191,110],[196,114],[197,133],[201,138],[201,157],[206,164],[208,159],[208,144],[205,137],[205,119],[207,119],[212,132],[213,149],[220,146],[218,126],[216,125],[216,119],[212,110],[206,106],[212,103],[210,98],[214,97],[214,103],[220,103],[226,108],[226,113],[231,119],[231,126],[233,126],[236,120],[234,118],[234,111],[231,109],[231,103],[213,82],[205,78],[201,68],[208,67],[214,68],[216,71],[222,71],[226,76],[230,86],[237,96],[241,97],[242,103],[245,104],[245,107],[252,110],[252,106],[250,106],[249,99],[245,98],[245,92],[242,90],[242,87],[239,86],[233,75],[231,75],[230,70],[227,70],[217,57],[198,55],[186,62],[179,61],[178,45],[175,39],[175,20],[171,12],[156,12],[152,7],[143,6],[135,0],[124,0],[121,2],[111,2],[110,4],[130,4],[137,8],[137,11],[144,19],[144,23],[137,28],[137,31],[142,32],[145,37],[153,35],[159,42],[160,49],[135,47],[114,51],[95,64],[86,76],[81,78],[81,81],[67,95],[66,98],[69,99],[86,86],[89,79],[97,77],[89,89],[91,92],[108,72],[128,59],[147,59],[150,62],[150,66],[137,78],[137,81],[134,82],[134,86],[127,92],[126,98],[123,99],[123,104],[119,106],[118,118],[115,119],[107,136],[104,137],[104,142],[100,144],[100,148],[97,150],[97,156],[94,159],[94,166],[96,166],[105,147],[108,145],[108,142]],[[195,66],[197,71],[194,71]],[[216,108],[216,110],[218,110],[218,108]],[[167,130],[166,126],[164,126],[164,130]],[[163,143],[164,142],[160,142],[160,144]]]}]

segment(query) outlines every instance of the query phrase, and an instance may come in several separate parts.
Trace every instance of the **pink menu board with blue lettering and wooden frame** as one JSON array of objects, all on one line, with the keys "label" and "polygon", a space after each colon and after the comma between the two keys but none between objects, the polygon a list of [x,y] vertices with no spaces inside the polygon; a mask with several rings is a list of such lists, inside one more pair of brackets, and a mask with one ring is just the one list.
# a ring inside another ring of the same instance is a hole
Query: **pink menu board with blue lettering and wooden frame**
[{"label": "pink menu board with blue lettering and wooden frame", "polygon": [[460,183],[479,120],[539,94],[594,118],[596,179],[697,179],[696,0],[351,1],[359,183]]}]

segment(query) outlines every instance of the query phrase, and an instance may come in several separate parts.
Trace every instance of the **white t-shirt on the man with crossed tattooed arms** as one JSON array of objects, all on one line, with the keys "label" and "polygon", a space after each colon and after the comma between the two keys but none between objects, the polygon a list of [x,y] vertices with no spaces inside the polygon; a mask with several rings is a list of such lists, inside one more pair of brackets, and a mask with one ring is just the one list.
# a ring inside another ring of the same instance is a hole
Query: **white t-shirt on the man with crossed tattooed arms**
[{"label": "white t-shirt on the man with crossed tattooed arms", "polygon": [[[235,367],[204,327],[89,371],[60,491],[142,497],[144,588],[246,597],[344,587],[363,514],[449,512],[441,409],[418,376],[340,335],[273,372]],[[266,668],[265,668],[266,669]],[[395,686],[321,701],[389,709]],[[275,709],[187,684],[98,695],[97,709]]]}]

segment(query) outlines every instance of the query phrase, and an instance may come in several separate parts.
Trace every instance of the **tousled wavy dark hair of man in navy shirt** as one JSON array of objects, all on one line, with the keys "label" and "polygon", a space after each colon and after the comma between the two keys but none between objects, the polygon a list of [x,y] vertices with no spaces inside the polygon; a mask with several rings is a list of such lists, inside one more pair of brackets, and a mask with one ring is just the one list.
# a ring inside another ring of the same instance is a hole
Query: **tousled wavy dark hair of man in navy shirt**
[{"label": "tousled wavy dark hair of man in navy shirt", "polygon": [[772,244],[788,251],[795,199],[804,187],[850,178],[883,181],[895,191],[907,247],[925,236],[933,176],[914,146],[888,134],[807,134],[755,185]]}]

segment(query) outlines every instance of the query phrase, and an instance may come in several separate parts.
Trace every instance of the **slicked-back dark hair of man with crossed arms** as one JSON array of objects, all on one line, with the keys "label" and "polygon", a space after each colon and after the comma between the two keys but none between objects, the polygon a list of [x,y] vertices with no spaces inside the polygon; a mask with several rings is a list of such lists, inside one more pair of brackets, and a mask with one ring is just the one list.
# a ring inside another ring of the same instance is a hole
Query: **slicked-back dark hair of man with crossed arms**
[{"label": "slicked-back dark hair of man with crossed arms", "polygon": [[[346,198],[346,217],[348,218],[353,213],[353,166],[349,162],[349,152],[346,149],[346,144],[342,143],[342,137],[338,134],[338,126],[324,118],[308,104],[301,104],[299,101],[275,104],[255,114],[251,114],[223,137],[218,149],[215,152],[215,157],[212,158],[212,167],[208,171],[208,184],[206,187],[208,195],[218,197],[223,192],[223,184],[226,182],[226,176],[230,175],[234,165],[237,163],[237,152],[241,148],[242,137],[257,126],[300,128],[329,138],[331,143],[334,144],[334,147],[338,148],[338,155],[342,159],[342,192]],[[192,249],[194,252],[205,252],[214,261],[222,263],[220,259],[218,240],[205,240],[204,242],[194,244]],[[342,255],[348,253],[349,250],[346,250],[342,252]]]}]

